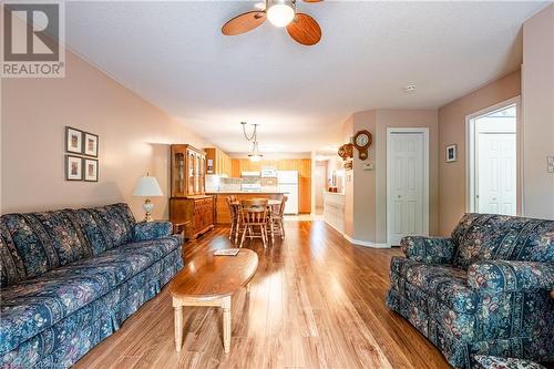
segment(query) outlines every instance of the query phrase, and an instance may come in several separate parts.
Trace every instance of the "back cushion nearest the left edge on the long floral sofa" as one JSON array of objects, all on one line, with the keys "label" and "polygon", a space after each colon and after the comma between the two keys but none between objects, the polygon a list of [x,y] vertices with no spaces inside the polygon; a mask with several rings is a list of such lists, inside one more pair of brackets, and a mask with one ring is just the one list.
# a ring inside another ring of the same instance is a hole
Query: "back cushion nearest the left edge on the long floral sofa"
[{"label": "back cushion nearest the left edge on the long floral sofa", "polygon": [[92,255],[81,229],[64,211],[2,215],[0,228],[2,247],[9,249],[0,255],[2,264],[23,268],[18,270],[23,279]]}]

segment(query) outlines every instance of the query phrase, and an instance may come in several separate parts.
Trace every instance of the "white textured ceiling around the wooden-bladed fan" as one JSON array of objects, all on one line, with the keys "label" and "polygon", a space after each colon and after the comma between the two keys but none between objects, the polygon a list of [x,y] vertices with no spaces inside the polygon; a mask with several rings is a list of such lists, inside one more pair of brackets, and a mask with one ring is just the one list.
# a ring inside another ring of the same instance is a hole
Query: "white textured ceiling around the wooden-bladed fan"
[{"label": "white textured ceiling around the wooden-bladed fan", "polygon": [[[300,2],[315,47],[270,23],[222,24],[254,2],[68,2],[69,47],[229,152],[324,150],[341,122],[375,107],[438,107],[513,71],[521,25],[543,2]],[[416,84],[414,93],[402,88]]]}]

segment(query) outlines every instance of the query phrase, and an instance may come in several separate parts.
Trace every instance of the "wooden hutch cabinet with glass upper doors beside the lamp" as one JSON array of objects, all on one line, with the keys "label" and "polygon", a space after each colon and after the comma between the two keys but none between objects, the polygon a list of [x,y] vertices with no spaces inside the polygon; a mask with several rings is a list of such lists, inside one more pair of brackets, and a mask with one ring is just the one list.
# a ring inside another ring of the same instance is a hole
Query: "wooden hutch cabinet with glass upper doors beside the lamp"
[{"label": "wooden hutch cabinet with glass upper doors beside the lamp", "polygon": [[171,146],[170,221],[188,223],[192,238],[214,227],[214,198],[206,196],[206,153],[191,145]]}]

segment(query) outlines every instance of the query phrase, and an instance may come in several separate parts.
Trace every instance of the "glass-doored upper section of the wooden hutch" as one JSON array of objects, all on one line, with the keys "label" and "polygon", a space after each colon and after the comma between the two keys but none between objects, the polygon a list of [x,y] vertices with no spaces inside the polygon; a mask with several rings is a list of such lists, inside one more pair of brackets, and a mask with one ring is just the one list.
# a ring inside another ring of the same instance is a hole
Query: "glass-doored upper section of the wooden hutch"
[{"label": "glass-doored upper section of the wooden hutch", "polygon": [[205,193],[206,153],[191,145],[172,145],[172,197]]}]

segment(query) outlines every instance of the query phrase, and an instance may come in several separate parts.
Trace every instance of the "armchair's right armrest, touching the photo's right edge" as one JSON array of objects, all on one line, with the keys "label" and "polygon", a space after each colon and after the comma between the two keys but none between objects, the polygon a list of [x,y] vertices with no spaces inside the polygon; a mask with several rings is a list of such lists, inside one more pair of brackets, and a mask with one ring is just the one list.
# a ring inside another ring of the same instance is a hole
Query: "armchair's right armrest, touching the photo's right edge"
[{"label": "armchair's right armrest, touching the photo's right edge", "polygon": [[470,265],[468,285],[473,289],[525,293],[554,288],[554,264],[482,260]]}]

